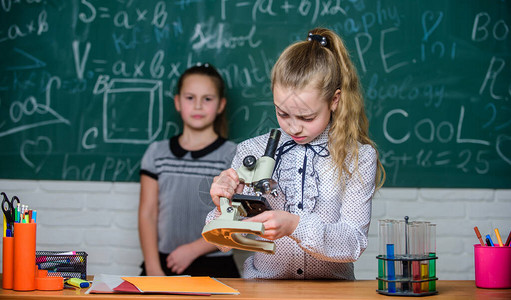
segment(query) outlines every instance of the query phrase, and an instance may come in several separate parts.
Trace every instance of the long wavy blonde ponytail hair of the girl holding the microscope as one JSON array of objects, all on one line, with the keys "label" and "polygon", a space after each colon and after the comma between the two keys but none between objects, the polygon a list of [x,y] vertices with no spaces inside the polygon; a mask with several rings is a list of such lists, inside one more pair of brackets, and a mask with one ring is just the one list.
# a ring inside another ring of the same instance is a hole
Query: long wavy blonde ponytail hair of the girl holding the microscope
[{"label": "long wavy blonde ponytail hair of the girl holding the microscope", "polygon": [[[332,113],[328,149],[339,170],[338,179],[344,185],[346,178],[358,173],[358,143],[369,144],[376,151],[377,148],[369,138],[360,82],[344,42],[326,28],[315,28],[310,33],[324,37],[326,45],[321,44],[321,39],[313,39],[287,47],[273,67],[272,90],[277,85],[297,90],[313,87],[329,105],[336,91],[341,91],[337,109]],[[353,171],[351,163],[355,166]],[[384,181],[385,170],[378,157],[376,187],[380,188]]]}]

